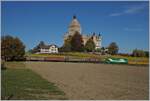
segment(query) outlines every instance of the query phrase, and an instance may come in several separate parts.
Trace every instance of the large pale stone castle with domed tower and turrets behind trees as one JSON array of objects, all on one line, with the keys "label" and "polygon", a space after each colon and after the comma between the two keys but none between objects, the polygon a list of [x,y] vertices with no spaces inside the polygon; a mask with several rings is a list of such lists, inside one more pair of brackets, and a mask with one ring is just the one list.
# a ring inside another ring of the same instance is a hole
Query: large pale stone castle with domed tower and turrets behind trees
[{"label": "large pale stone castle with domed tower and turrets behind trees", "polygon": [[92,33],[91,35],[83,34],[79,21],[77,20],[76,16],[73,16],[73,20],[69,25],[68,32],[66,32],[64,35],[64,42],[68,38],[68,36],[73,36],[75,32],[79,32],[82,35],[84,45],[90,38],[92,38],[96,46],[95,49],[102,47],[101,46],[102,36],[100,34],[96,35],[96,33]]}]

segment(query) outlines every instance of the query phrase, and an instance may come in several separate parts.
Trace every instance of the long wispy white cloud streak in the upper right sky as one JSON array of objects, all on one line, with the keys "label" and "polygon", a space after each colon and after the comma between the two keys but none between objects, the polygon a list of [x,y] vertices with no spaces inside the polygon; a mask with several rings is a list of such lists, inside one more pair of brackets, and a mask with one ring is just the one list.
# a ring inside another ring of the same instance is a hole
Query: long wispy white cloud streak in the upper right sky
[{"label": "long wispy white cloud streak in the upper right sky", "polygon": [[121,16],[121,15],[125,15],[125,14],[139,13],[139,12],[143,11],[145,7],[146,7],[146,5],[133,6],[122,12],[112,13],[112,14],[110,14],[110,16]]}]

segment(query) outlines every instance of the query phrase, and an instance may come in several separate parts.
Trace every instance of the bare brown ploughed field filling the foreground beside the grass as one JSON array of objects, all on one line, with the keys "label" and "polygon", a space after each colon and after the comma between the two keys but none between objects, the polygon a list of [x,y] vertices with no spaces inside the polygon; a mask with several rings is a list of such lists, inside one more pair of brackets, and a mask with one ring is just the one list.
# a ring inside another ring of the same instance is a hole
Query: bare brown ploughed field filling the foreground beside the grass
[{"label": "bare brown ploughed field filling the foreground beside the grass", "polygon": [[26,62],[69,99],[148,99],[148,67],[88,63]]}]

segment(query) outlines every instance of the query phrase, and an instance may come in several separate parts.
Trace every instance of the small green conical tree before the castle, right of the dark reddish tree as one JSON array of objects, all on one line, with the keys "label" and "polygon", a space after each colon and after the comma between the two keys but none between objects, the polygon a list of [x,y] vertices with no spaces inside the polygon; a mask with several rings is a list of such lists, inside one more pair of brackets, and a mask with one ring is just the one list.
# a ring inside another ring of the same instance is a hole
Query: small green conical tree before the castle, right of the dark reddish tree
[{"label": "small green conical tree before the castle, right of the dark reddish tree", "polygon": [[86,50],[87,52],[92,52],[92,51],[95,50],[95,43],[93,42],[92,38],[90,38],[90,39],[86,42],[84,48],[85,48],[85,50]]}]

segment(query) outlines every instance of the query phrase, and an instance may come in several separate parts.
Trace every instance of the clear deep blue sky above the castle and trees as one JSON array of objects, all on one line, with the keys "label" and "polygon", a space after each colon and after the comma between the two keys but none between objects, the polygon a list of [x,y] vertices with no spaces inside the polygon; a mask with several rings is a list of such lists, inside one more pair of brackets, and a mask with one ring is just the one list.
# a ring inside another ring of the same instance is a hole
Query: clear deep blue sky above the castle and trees
[{"label": "clear deep blue sky above the castle and trees", "polygon": [[3,1],[1,35],[19,37],[32,49],[40,41],[63,45],[76,15],[82,34],[102,35],[102,46],[116,42],[119,52],[149,49],[148,1]]}]

